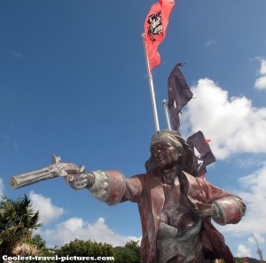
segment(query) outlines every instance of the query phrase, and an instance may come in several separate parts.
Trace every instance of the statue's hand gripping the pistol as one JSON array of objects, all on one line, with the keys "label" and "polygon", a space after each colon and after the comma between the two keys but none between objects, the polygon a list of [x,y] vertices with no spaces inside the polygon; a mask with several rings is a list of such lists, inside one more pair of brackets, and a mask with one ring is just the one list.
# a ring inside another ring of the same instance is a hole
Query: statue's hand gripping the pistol
[{"label": "statue's hand gripping the pistol", "polygon": [[90,171],[85,171],[85,167],[81,166],[80,171],[70,175],[71,179],[68,179],[70,187],[75,190],[81,190],[83,188],[90,188],[94,182],[94,174]]}]

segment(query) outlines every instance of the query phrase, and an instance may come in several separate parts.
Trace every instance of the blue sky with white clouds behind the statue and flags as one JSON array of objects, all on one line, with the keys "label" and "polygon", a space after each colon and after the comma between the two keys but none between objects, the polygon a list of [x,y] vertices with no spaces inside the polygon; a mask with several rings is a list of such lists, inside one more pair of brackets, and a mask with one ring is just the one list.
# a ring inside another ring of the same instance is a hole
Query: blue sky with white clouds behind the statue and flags
[{"label": "blue sky with white clouds behind the statue and flags", "polygon": [[[145,171],[154,133],[141,34],[155,1],[0,3],[0,194],[29,195],[50,246],[75,237],[123,244],[141,237],[137,205],[108,207],[62,178],[12,190],[14,174],[62,161],[87,170]],[[217,162],[207,180],[247,203],[219,227],[235,256],[266,251],[266,2],[176,1],[153,84],[160,120],[179,61],[194,98],[181,133],[203,131]]]}]

